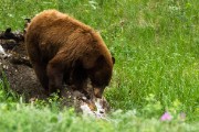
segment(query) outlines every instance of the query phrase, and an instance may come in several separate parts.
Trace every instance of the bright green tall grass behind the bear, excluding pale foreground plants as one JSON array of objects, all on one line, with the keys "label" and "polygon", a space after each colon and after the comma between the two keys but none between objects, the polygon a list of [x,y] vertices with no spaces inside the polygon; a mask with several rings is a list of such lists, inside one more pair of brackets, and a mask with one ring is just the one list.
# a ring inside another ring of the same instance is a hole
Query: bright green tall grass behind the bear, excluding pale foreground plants
[{"label": "bright green tall grass behind the bear, excluding pale foreground plants", "polygon": [[[116,58],[105,97],[113,109],[138,111],[155,95],[160,116],[178,100],[188,121],[199,121],[198,0],[1,0],[0,30],[57,9],[100,31]],[[143,113],[144,114],[144,113]]]}]

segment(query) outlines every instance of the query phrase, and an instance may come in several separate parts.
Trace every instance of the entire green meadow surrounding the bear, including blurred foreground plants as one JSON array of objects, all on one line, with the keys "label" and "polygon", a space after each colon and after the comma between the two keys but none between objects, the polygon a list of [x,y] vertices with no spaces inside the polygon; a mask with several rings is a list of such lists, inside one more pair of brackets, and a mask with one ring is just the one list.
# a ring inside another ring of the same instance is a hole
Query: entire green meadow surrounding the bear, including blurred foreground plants
[{"label": "entire green meadow surrounding the bear, including blurred foreground plants", "polygon": [[[24,103],[0,78],[1,131],[199,131],[198,0],[0,0],[0,31],[57,9],[101,32],[116,59],[107,120]],[[165,112],[169,121],[161,121]]]}]

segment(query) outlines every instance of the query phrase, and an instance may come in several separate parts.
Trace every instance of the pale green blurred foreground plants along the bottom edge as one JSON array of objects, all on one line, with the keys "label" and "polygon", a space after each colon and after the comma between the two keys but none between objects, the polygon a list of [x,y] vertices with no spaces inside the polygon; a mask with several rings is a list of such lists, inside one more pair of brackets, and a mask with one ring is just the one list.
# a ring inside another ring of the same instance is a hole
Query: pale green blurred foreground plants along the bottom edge
[{"label": "pale green blurred foreground plants along the bottom edge", "polygon": [[[31,112],[30,112],[31,111]],[[0,129],[2,132],[161,132],[161,131],[197,131],[197,124],[178,122],[159,122],[156,119],[137,118],[134,112],[114,112],[106,120],[80,117],[73,111],[54,113],[50,109],[42,110],[18,103],[13,110],[0,109]]]}]

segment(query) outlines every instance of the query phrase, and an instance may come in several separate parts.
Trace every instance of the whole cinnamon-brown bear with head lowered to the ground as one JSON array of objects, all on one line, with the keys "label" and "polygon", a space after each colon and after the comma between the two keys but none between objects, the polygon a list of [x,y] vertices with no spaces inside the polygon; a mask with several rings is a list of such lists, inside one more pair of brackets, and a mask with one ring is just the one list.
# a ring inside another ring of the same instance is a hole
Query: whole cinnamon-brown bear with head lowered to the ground
[{"label": "whole cinnamon-brown bear with head lowered to the ground", "polygon": [[101,98],[111,81],[115,58],[101,35],[67,14],[45,10],[35,15],[27,28],[25,44],[49,94],[61,90],[64,82],[81,90],[90,79],[94,95]]}]

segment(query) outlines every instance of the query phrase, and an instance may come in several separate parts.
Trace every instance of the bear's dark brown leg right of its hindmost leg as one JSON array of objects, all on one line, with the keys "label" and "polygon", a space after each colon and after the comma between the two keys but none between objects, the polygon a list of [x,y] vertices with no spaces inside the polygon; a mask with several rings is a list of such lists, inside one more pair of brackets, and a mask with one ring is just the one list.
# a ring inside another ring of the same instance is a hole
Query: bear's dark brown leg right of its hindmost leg
[{"label": "bear's dark brown leg right of its hindmost leg", "polygon": [[63,69],[60,63],[51,61],[48,64],[48,78],[49,78],[49,94],[57,92],[61,96],[63,84]]}]

